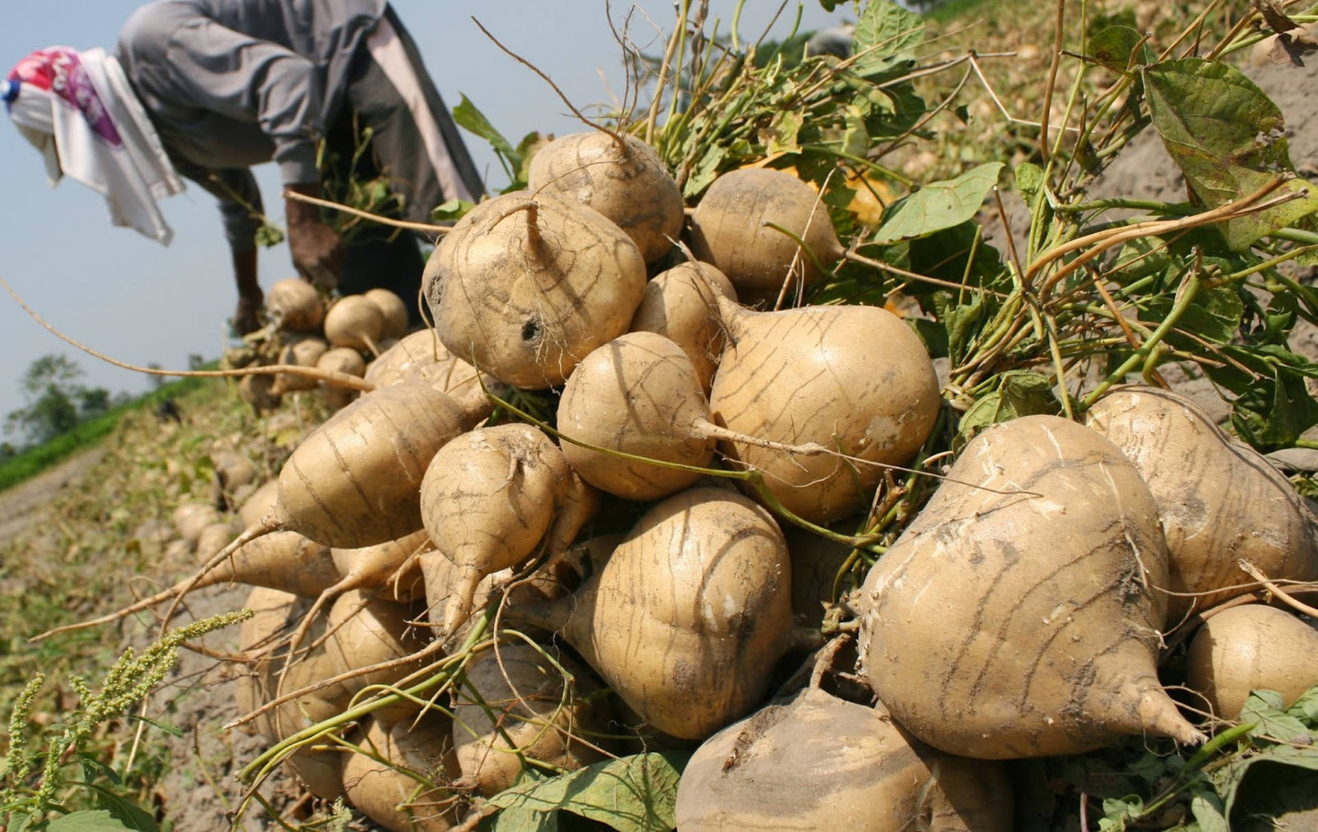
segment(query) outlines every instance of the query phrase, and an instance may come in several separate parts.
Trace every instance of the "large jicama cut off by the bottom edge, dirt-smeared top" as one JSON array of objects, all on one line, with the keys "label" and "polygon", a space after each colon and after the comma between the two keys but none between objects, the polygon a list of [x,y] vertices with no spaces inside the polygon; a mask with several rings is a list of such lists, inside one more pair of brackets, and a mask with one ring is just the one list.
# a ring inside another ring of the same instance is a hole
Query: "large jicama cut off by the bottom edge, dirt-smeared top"
[{"label": "large jicama cut off by the bottom edge, dirt-smeared top", "polygon": [[[1008,832],[1002,764],[934,750],[879,704],[807,689],[724,728],[677,785],[677,828]],[[788,823],[784,824],[784,820]]]}]

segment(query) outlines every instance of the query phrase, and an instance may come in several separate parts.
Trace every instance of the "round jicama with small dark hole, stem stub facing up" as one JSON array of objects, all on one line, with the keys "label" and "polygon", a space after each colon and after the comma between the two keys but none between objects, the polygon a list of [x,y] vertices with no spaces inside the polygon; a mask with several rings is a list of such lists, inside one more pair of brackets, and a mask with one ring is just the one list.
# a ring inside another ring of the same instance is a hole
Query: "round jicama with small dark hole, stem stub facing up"
[{"label": "round jicama with small dark hole, stem stub facing up", "polygon": [[423,276],[440,341],[515,387],[561,384],[622,334],[646,265],[622,229],[575,200],[505,194],[459,220]]}]

